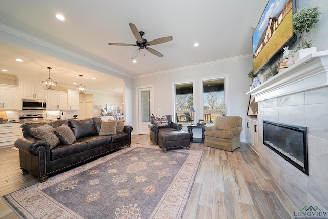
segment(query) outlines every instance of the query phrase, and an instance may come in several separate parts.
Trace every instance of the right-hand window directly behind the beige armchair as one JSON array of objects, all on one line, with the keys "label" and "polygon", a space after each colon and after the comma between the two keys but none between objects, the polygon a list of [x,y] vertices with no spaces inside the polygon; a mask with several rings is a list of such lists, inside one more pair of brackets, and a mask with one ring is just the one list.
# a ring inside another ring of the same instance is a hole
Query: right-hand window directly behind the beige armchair
[{"label": "right-hand window directly behind the beige armchair", "polygon": [[224,78],[203,81],[203,109],[205,123],[214,123],[217,116],[226,115]]}]

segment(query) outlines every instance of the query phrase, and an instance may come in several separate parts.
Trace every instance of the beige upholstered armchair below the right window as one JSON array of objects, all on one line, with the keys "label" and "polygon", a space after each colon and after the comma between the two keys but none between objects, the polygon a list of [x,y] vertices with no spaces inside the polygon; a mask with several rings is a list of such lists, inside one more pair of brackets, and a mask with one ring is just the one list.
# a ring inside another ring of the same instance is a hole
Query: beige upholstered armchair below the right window
[{"label": "beige upholstered armchair below the right window", "polygon": [[205,146],[226,151],[240,147],[242,118],[239,116],[218,116],[214,126],[205,128]]}]

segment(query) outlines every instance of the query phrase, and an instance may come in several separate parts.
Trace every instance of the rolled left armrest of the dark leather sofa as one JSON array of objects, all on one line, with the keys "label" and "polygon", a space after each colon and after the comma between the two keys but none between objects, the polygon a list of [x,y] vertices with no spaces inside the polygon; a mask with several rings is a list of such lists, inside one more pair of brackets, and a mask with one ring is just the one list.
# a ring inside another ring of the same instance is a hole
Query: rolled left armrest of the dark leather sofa
[{"label": "rolled left armrest of the dark leather sofa", "polygon": [[47,156],[50,156],[50,146],[46,141],[33,137],[21,137],[15,141],[15,147],[34,156],[39,155],[38,147],[44,147]]}]

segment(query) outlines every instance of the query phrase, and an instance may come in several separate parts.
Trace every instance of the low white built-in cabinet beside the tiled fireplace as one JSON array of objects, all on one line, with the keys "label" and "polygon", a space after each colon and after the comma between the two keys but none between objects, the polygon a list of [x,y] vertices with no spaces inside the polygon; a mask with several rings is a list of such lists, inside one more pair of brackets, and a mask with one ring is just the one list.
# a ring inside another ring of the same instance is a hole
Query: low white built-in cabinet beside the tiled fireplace
[{"label": "low white built-in cabinet beside the tiled fireplace", "polygon": [[246,142],[258,154],[258,120],[255,118],[246,118]]}]

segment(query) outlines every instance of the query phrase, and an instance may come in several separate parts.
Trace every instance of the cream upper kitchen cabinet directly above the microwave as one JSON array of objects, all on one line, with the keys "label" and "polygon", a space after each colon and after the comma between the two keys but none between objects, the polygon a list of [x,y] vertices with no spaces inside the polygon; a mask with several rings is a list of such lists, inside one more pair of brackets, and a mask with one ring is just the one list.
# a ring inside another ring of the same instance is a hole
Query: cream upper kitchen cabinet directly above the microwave
[{"label": "cream upper kitchen cabinet directly above the microwave", "polygon": [[42,82],[20,81],[20,96],[22,99],[46,99],[46,90]]}]

